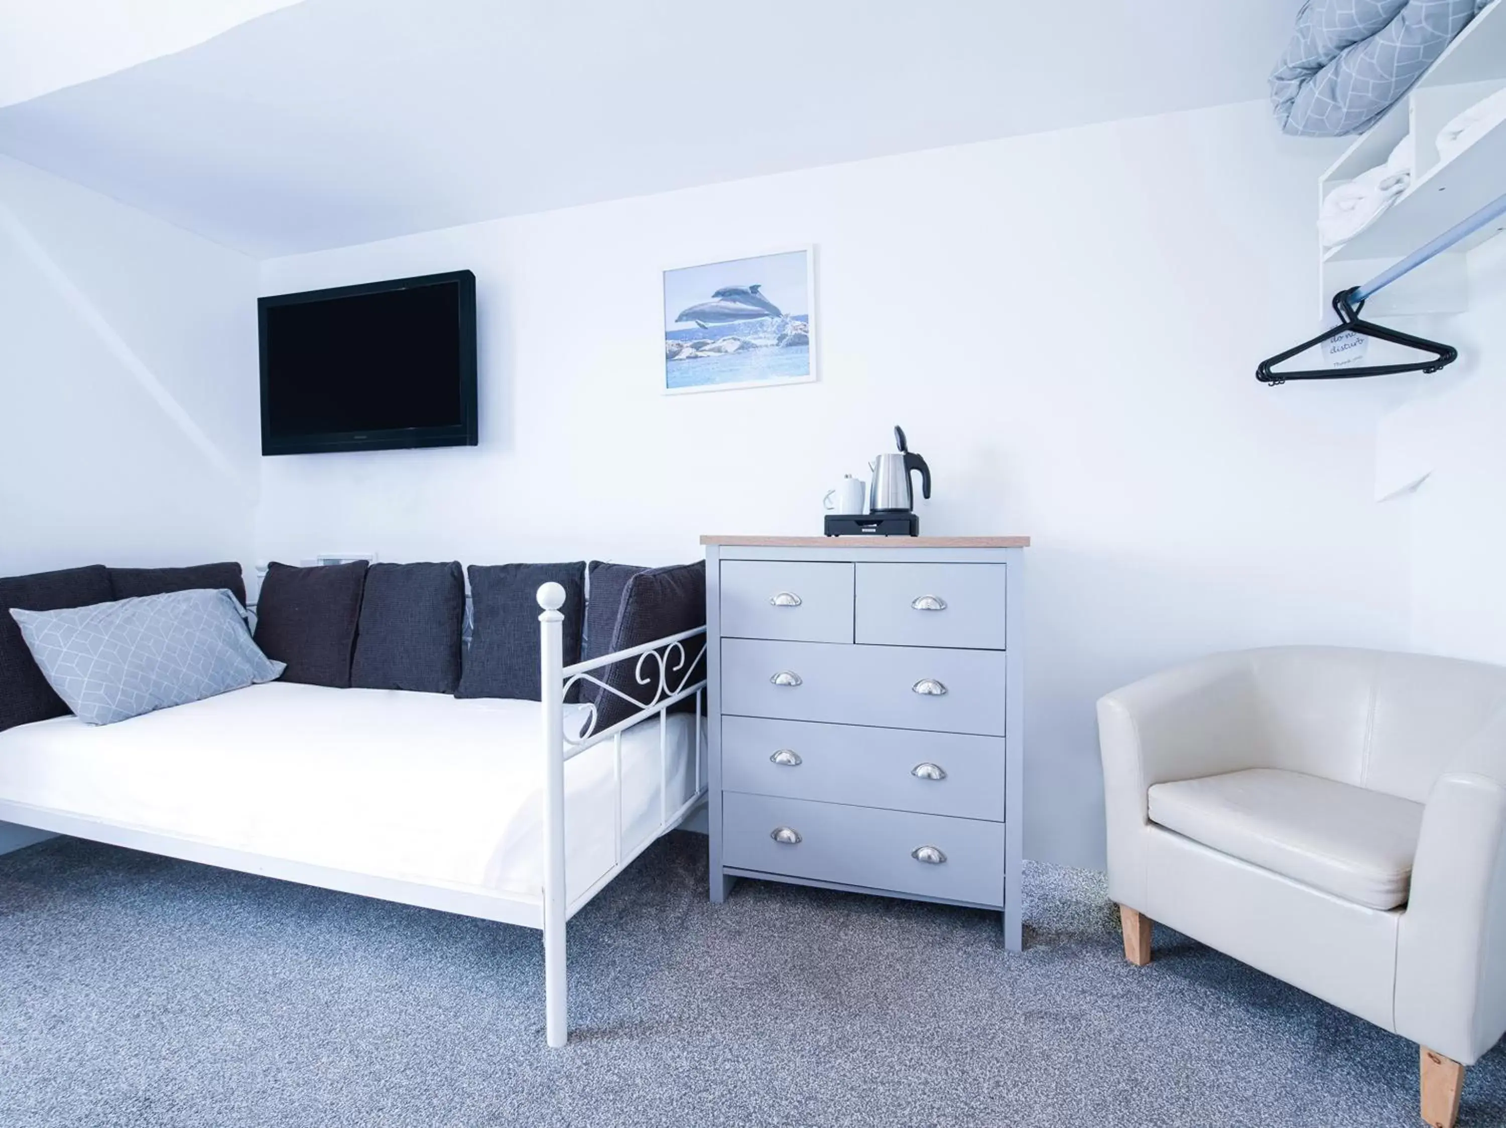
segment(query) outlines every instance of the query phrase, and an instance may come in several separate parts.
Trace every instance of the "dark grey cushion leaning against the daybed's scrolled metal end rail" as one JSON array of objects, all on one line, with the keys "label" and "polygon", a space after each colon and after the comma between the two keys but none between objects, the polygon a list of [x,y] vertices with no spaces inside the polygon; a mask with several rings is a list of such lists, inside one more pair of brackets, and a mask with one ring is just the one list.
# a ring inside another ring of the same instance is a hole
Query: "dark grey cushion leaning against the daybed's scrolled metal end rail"
[{"label": "dark grey cushion leaning against the daybed's scrolled metal end rail", "polygon": [[[705,625],[706,562],[649,568],[628,580],[622,593],[616,630],[611,634],[611,642],[602,648],[602,654],[626,651]],[[706,673],[705,657],[696,658],[702,652],[702,639],[691,639],[682,646],[685,664],[676,670],[670,663],[669,688],[672,690],[678,685],[693,685]],[[690,666],[691,660],[694,660],[693,667]],[[620,661],[613,663],[605,670],[593,670],[593,673],[611,688],[648,702],[655,685],[639,685],[636,666],[636,660]],[[645,664],[645,673],[657,673],[652,660]],[[637,712],[630,702],[599,687],[595,690],[595,697],[587,691],[583,699],[596,706],[596,723],[592,732],[610,729]]]}]

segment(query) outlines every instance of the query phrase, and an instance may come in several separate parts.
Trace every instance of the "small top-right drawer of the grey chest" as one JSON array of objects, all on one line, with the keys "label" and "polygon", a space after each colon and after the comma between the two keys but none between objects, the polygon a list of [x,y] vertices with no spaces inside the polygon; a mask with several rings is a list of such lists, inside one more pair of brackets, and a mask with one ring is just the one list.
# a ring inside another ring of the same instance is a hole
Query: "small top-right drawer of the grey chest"
[{"label": "small top-right drawer of the grey chest", "polygon": [[1001,651],[1005,568],[1006,565],[860,563],[857,642]]}]

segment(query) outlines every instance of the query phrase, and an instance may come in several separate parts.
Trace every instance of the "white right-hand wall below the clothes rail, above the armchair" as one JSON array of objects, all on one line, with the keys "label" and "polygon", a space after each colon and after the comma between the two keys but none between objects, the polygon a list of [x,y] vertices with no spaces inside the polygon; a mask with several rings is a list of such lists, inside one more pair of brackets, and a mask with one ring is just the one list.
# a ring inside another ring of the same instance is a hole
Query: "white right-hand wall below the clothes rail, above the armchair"
[{"label": "white right-hand wall below the clothes rail, above the armchair", "polygon": [[[1432,325],[1459,361],[1416,380],[1381,429],[1381,473],[1426,473],[1410,521],[1410,643],[1506,663],[1506,238],[1468,256],[1470,309]],[[1392,505],[1392,503],[1389,503]]]}]

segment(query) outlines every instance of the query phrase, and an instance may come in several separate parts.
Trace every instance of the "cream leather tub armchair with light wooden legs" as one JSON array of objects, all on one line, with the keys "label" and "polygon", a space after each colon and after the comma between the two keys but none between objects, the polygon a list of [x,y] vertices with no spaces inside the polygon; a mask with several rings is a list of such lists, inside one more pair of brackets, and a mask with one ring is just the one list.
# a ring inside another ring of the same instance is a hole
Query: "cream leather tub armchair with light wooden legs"
[{"label": "cream leather tub armchair with light wooden legs", "polygon": [[1506,1030],[1506,669],[1289,646],[1098,702],[1108,892],[1422,1047],[1452,1128]]}]

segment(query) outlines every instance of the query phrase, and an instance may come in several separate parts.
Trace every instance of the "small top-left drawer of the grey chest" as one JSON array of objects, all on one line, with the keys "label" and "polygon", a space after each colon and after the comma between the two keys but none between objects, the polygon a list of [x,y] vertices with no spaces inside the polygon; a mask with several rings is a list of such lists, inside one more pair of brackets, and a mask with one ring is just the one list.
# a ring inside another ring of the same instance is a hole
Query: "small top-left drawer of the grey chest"
[{"label": "small top-left drawer of the grey chest", "polygon": [[852,642],[852,565],[723,562],[721,634],[733,639]]}]

